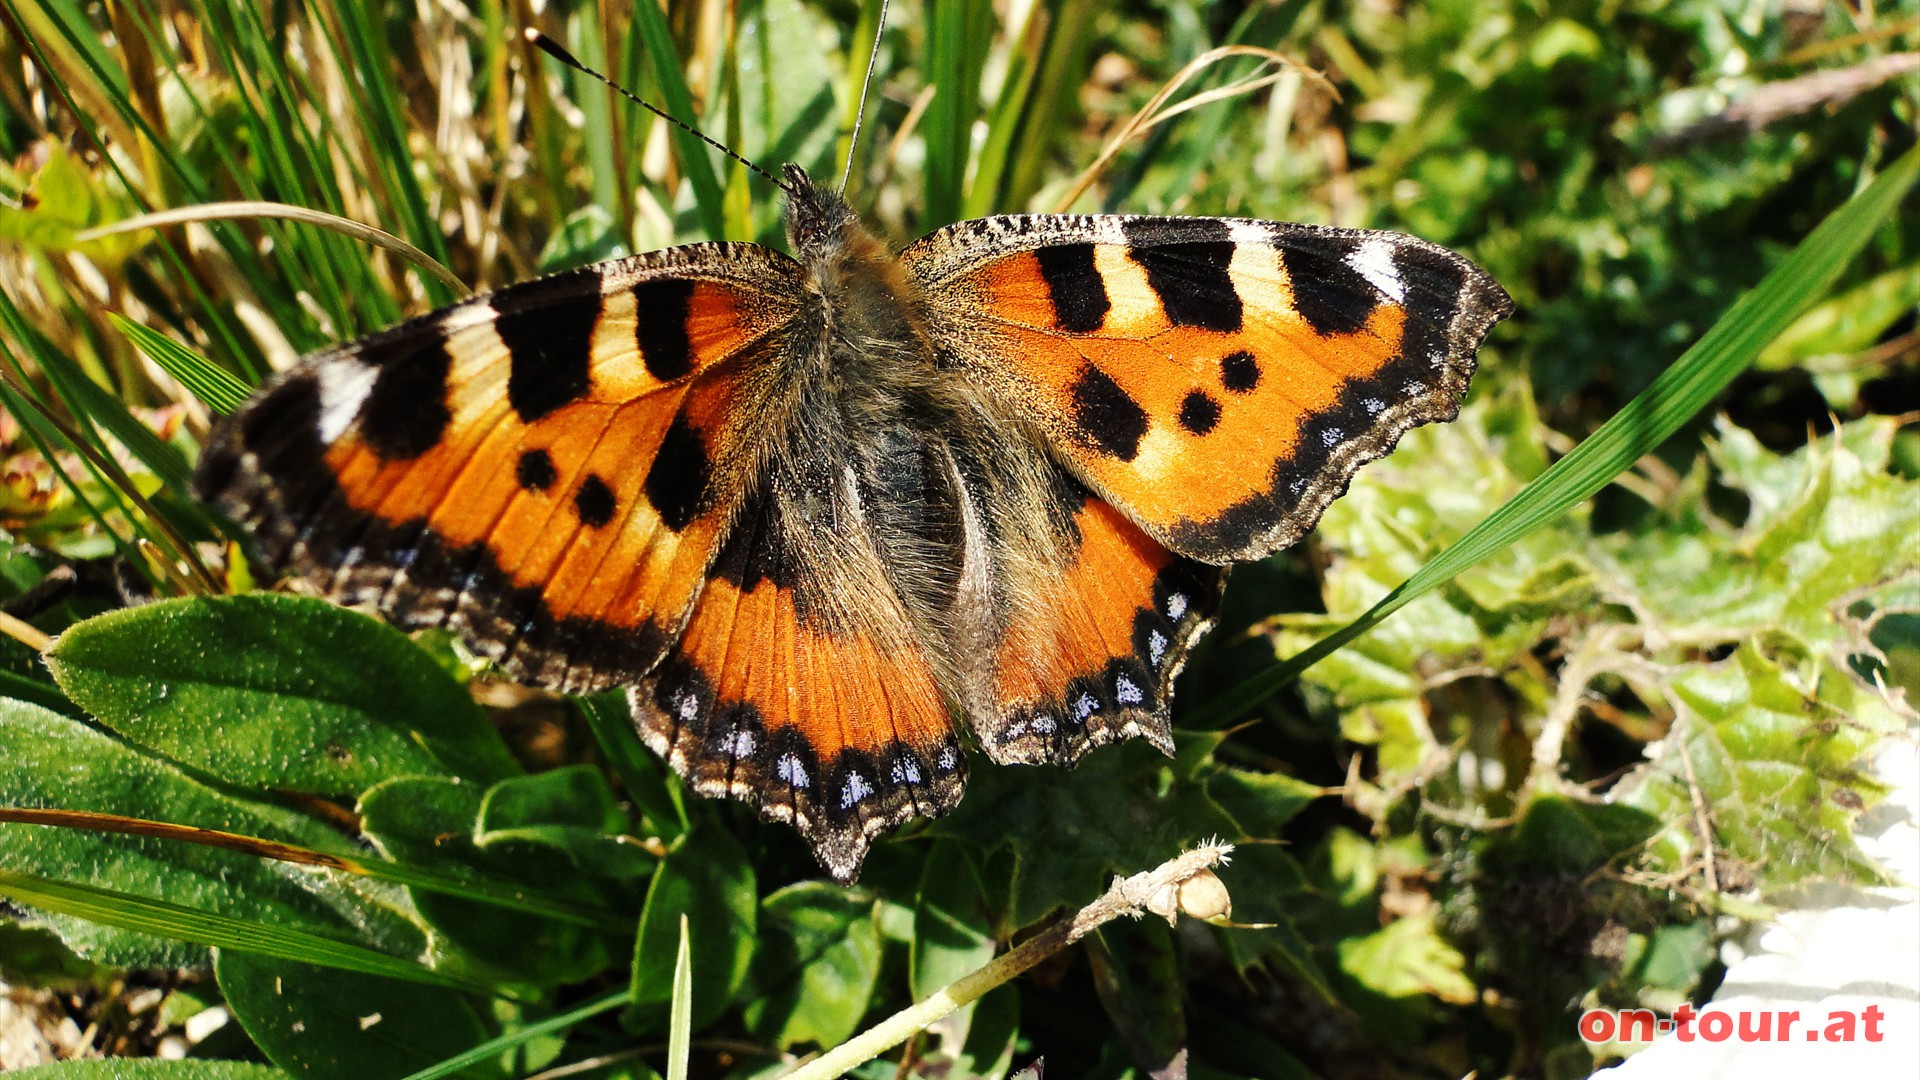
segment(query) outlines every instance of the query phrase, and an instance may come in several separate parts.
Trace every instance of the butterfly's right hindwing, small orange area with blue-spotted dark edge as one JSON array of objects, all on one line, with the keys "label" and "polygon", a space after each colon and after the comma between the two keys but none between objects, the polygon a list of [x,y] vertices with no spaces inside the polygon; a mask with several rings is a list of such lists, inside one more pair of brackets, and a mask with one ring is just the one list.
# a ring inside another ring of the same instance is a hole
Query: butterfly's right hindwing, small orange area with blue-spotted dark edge
[{"label": "butterfly's right hindwing, small orange area with blue-spotted dark edge", "polygon": [[1004,582],[996,605],[981,749],[1002,765],[1071,765],[1140,736],[1173,753],[1173,678],[1213,625],[1227,571],[1169,552],[1064,473],[1052,511],[1060,565]]}]

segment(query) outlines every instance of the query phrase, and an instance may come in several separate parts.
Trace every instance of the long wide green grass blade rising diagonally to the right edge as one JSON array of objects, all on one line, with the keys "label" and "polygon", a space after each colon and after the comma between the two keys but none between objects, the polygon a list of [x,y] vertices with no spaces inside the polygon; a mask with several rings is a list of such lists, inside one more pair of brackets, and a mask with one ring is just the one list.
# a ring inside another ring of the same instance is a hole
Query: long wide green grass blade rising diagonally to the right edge
[{"label": "long wide green grass blade rising diagonally to the right edge", "polygon": [[1761,350],[1834,286],[1847,263],[1899,208],[1914,179],[1920,179],[1920,148],[1908,150],[1866,190],[1828,215],[1764,281],[1728,307],[1693,348],[1532,484],[1400,582],[1365,615],[1208,701],[1194,711],[1190,723],[1215,726],[1246,715],[1394,611],[1592,498],[1634,461],[1657,450],[1690,417],[1713,405]]}]

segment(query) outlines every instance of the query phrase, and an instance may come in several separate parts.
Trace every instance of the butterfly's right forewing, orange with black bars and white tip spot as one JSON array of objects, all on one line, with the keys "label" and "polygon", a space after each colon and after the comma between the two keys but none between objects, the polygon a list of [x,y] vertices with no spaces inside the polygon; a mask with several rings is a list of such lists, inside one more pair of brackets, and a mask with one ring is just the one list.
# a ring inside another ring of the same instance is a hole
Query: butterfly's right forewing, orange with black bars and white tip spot
[{"label": "butterfly's right forewing, orange with black bars and white tip spot", "polygon": [[964,221],[902,252],[945,361],[1039,417],[1152,538],[1210,563],[1304,536],[1452,419],[1513,304],[1394,233],[1217,217]]}]

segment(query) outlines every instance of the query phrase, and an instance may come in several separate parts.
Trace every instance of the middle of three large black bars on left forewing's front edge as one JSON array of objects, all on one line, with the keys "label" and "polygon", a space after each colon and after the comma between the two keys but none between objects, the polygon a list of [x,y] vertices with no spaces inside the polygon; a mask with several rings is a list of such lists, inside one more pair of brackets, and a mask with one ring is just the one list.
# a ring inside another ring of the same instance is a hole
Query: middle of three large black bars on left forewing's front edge
[{"label": "middle of three large black bars on left forewing's front edge", "polygon": [[599,273],[570,271],[493,298],[493,331],[507,348],[507,400],[520,423],[586,396],[593,325],[601,315]]}]

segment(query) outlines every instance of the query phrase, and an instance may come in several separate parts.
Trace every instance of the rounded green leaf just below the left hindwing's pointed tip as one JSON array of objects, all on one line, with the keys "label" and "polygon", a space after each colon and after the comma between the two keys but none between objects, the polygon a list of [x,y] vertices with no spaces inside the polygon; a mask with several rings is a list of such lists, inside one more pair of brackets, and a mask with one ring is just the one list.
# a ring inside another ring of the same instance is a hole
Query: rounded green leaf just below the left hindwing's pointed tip
[{"label": "rounded green leaf just below the left hindwing's pointed tip", "polygon": [[801,882],[760,901],[758,945],[741,988],[756,1040],[781,1049],[839,1045],[858,1030],[877,980],[872,899]]}]

